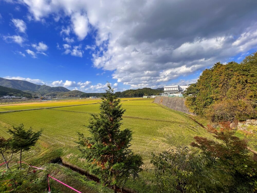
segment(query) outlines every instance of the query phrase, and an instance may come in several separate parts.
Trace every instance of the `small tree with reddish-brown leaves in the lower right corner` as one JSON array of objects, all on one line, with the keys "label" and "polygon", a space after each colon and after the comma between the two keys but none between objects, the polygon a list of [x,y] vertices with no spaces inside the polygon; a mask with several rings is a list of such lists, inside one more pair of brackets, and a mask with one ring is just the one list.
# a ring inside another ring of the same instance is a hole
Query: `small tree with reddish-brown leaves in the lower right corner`
[{"label": "small tree with reddish-brown leaves in the lower right corner", "polygon": [[[220,123],[219,130],[208,126],[208,131],[214,134],[216,140],[195,136],[191,146],[199,148],[201,154],[211,162],[210,167],[215,167],[230,174],[236,182],[247,182],[257,185],[257,163],[247,150],[247,142],[235,136],[235,131],[228,122]],[[257,187],[257,186],[256,186]]]}]

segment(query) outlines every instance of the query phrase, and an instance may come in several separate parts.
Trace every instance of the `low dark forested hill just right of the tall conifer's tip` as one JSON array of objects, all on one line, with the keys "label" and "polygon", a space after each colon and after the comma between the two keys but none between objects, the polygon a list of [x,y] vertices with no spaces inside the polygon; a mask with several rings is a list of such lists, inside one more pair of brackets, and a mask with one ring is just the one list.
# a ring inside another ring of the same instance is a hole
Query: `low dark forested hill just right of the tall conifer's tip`
[{"label": "low dark forested hill just right of the tall conifer's tip", "polygon": [[162,90],[155,90],[151,88],[143,88],[143,89],[130,89],[123,92],[115,92],[115,95],[118,97],[142,97],[142,96],[150,96],[150,95],[159,95],[159,93],[163,92]]}]

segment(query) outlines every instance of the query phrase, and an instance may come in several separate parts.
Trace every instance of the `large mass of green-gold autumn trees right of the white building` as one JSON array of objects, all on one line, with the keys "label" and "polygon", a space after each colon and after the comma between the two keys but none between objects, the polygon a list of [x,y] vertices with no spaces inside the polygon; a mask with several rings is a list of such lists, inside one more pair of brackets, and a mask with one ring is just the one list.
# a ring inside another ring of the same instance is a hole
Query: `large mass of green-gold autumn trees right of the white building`
[{"label": "large mass of green-gold autumn trees right of the white building", "polygon": [[184,96],[191,112],[214,122],[257,117],[257,52],[204,70]]}]

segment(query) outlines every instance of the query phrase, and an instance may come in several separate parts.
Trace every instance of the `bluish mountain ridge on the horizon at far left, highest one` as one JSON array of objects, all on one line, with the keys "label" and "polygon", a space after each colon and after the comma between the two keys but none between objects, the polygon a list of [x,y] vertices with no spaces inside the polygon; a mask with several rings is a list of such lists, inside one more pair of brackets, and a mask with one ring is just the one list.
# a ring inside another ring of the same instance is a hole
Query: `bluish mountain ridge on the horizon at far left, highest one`
[{"label": "bluish mountain ridge on the horizon at far left, highest one", "polygon": [[31,94],[47,94],[50,92],[68,92],[70,91],[69,89],[66,89],[65,87],[62,86],[57,86],[57,87],[51,87],[47,85],[39,85],[39,84],[34,84],[28,81],[23,81],[23,80],[9,80],[5,78],[0,78],[0,86],[5,86],[13,89],[19,89],[22,91],[34,91],[30,92]]}]

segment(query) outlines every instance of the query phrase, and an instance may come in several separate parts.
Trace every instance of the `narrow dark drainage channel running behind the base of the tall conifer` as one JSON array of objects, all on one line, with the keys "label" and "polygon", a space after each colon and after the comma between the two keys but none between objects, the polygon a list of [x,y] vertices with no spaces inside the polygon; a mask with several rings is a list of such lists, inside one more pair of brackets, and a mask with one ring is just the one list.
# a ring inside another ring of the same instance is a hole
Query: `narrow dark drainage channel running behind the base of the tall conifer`
[{"label": "narrow dark drainage channel running behind the base of the tall conifer", "polygon": [[[79,174],[86,176],[89,180],[93,180],[97,183],[100,182],[100,179],[97,176],[94,176],[92,174],[89,174],[85,169],[80,168],[76,165],[70,164],[69,162],[63,161],[61,157],[54,159],[51,161],[51,163],[57,163],[60,166],[67,167],[71,169],[72,171],[78,172]],[[109,188],[113,189],[113,186],[109,186]],[[134,190],[131,190],[129,188],[119,188],[117,187],[117,192],[122,192],[122,193],[137,193]]]}]

